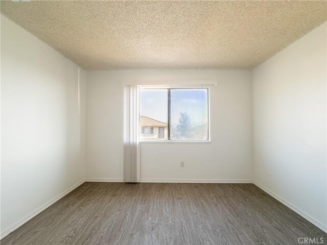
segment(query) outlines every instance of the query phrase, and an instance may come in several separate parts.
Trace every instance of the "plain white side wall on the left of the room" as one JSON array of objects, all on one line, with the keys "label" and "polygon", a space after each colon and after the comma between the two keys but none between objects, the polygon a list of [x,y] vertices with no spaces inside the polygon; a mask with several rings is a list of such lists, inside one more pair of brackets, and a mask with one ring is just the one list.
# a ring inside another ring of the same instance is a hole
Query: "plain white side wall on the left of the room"
[{"label": "plain white side wall on the left of the room", "polygon": [[2,237],[84,180],[85,76],[1,16]]}]

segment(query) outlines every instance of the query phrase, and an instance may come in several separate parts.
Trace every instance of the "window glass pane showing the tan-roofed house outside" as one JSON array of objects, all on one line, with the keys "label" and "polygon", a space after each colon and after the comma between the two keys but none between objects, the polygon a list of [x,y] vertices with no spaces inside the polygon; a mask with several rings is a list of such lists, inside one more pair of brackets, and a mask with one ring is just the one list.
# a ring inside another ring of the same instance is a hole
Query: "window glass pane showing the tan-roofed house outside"
[{"label": "window glass pane showing the tan-roofed house outside", "polygon": [[168,89],[141,89],[139,115],[141,139],[167,139]]}]

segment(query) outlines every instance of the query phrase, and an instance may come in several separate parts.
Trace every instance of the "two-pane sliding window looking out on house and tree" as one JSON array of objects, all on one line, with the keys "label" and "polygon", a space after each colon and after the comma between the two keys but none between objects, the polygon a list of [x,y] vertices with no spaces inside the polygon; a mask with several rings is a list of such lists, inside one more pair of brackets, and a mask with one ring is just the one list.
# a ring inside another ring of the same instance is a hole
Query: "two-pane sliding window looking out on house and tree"
[{"label": "two-pane sliding window looking out on house and tree", "polygon": [[141,88],[141,139],[208,140],[207,88]]}]

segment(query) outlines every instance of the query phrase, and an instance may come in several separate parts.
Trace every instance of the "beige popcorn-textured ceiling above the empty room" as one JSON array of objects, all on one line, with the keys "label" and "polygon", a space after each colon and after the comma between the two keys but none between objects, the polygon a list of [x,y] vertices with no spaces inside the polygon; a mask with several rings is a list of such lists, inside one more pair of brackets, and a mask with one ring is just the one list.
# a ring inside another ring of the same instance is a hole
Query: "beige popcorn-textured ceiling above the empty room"
[{"label": "beige popcorn-textured ceiling above the empty room", "polygon": [[1,1],[84,69],[252,69],[326,21],[325,1]]}]

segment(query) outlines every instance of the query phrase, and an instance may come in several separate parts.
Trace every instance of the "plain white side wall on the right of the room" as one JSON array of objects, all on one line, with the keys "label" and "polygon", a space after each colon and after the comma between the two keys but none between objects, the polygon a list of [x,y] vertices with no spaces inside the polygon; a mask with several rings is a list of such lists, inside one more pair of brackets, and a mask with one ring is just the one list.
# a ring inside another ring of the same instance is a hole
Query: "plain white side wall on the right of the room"
[{"label": "plain white side wall on the right of the room", "polygon": [[254,179],[324,230],[326,28],[322,24],[252,72]]}]

